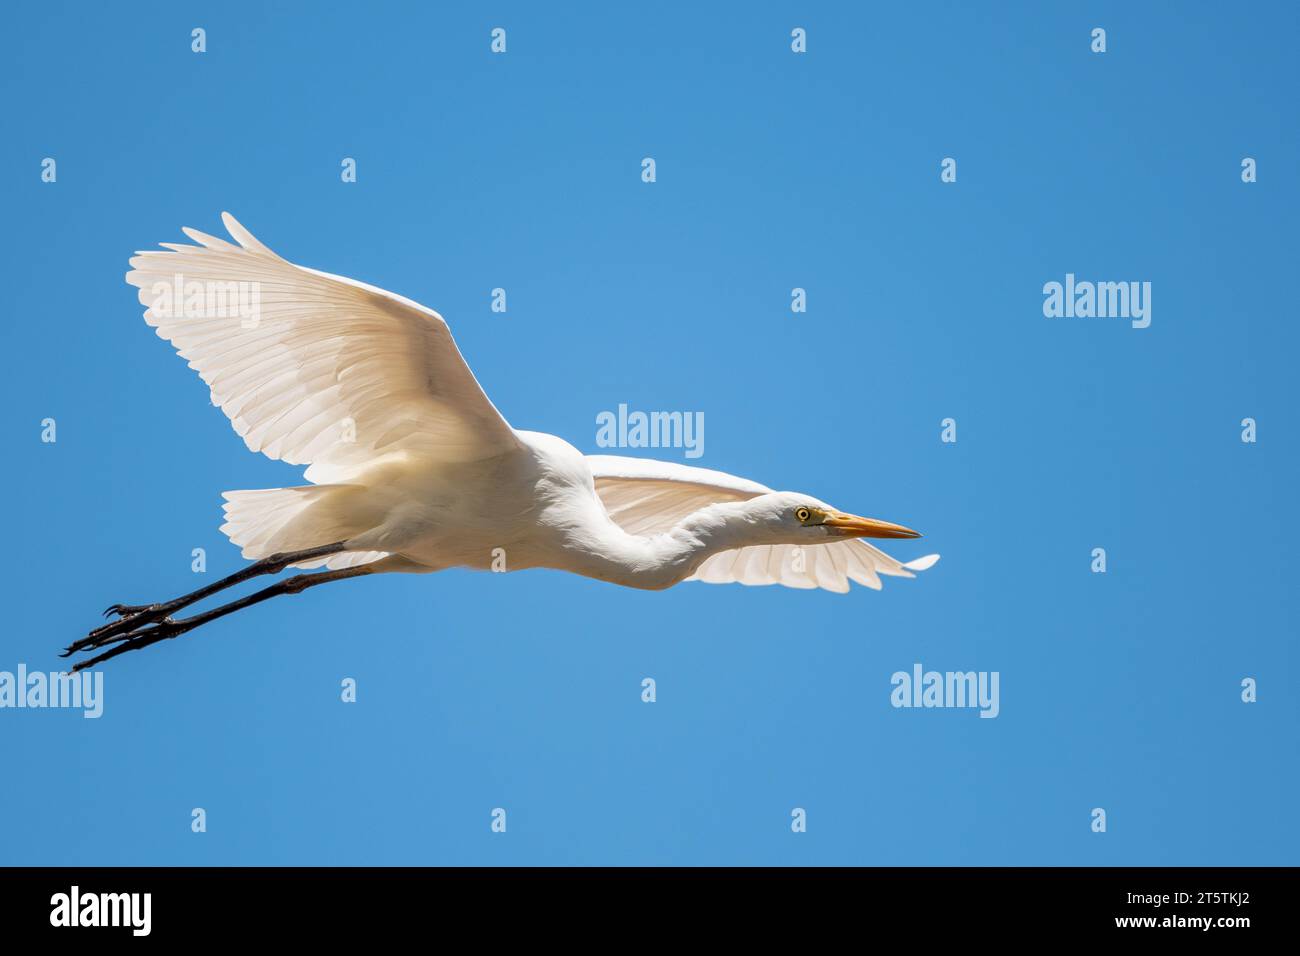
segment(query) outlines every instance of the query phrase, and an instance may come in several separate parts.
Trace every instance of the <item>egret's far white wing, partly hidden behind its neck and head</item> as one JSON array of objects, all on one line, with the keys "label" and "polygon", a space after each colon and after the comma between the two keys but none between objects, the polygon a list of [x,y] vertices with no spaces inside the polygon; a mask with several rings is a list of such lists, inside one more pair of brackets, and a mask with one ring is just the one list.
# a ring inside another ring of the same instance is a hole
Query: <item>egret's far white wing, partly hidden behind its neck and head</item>
[{"label": "egret's far white wing, partly hidden behind its neck and head", "polygon": [[[633,535],[668,531],[686,515],[724,501],[746,501],[772,489],[722,471],[619,455],[588,455],[595,492],[619,527]],[[753,545],[714,554],[686,580],[708,584],[784,584],[845,592],[849,581],[876,591],[880,575],[914,578],[939,561],[931,554],[894,561],[861,538],[824,545]]]}]

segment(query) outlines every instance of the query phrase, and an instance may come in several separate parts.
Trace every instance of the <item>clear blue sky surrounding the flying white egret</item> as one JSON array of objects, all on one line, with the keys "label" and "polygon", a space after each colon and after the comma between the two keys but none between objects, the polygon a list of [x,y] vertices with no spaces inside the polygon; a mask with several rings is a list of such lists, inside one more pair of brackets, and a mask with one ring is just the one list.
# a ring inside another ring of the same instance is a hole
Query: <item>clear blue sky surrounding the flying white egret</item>
[{"label": "clear blue sky surrounding the flying white egret", "polygon": [[[6,12],[0,670],[239,567],[220,492],[300,484],[122,281],[222,209],[438,310],[519,428],[702,411],[690,463],[942,561],[280,598],[109,663],[98,721],[0,710],[0,864],[1295,864],[1296,8],[445,7]],[[1044,317],[1066,273],[1150,326]],[[1000,715],[892,708],[916,662]]]}]

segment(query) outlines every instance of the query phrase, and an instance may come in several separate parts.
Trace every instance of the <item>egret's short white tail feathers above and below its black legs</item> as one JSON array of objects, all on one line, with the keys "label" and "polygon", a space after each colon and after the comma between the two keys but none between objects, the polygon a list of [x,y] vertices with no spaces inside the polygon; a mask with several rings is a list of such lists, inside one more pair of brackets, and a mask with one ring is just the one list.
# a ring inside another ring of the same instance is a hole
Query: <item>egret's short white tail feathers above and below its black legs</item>
[{"label": "egret's short white tail feathers above and below its black legs", "polygon": [[[222,492],[226,523],[221,525],[221,532],[243,550],[243,557],[254,559],[347,541],[367,529],[356,527],[356,510],[343,506],[360,490],[354,485],[303,485]],[[337,570],[385,557],[387,551],[343,551],[294,567],[324,564]]]}]

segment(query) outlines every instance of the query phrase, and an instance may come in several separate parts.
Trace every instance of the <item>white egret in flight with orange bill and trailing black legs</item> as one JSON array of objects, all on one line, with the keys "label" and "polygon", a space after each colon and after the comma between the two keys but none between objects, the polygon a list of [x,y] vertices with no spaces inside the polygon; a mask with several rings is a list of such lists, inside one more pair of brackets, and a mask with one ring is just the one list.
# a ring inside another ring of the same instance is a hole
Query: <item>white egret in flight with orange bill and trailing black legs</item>
[{"label": "white egret in flight with orange bill and trailing black legs", "polygon": [[[295,265],[229,213],[222,221],[235,242],[185,229],[196,245],[138,252],[126,281],[148,307],[144,321],[199,373],[248,449],[308,466],[309,484],[225,492],[221,531],[254,563],[172,601],[113,605],[105,617],[116,619],[64,652],[94,654],[74,671],[278,594],[390,571],[549,567],[629,588],[696,580],[845,592],[850,580],[879,589],[881,575],[911,578],[939,559],[898,562],[864,538],[915,531],[807,494],[584,455],[511,428],[441,315]],[[285,568],[312,572],[174,617]]]}]

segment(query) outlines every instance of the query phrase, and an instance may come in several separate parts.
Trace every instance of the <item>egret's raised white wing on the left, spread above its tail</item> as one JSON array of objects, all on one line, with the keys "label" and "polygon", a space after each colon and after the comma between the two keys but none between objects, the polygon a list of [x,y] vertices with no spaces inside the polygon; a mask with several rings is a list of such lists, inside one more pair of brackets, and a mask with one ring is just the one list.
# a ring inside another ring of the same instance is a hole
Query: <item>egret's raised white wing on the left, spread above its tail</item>
[{"label": "egret's raised white wing on the left, spread above its tail", "polygon": [[185,234],[138,252],[144,321],[212,389],[252,451],[346,480],[384,455],[476,460],[519,447],[447,324],[400,295],[294,265],[229,213],[239,243]]}]

